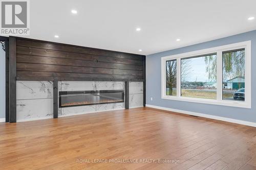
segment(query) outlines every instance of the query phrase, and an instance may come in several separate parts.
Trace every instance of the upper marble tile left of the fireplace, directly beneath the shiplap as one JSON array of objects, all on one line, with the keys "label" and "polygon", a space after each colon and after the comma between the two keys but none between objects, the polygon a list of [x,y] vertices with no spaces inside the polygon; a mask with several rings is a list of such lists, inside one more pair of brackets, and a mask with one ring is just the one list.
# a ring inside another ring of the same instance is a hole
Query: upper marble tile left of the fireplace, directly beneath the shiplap
[{"label": "upper marble tile left of the fireplace, directly beneath the shiplap", "polygon": [[53,98],[52,81],[17,81],[17,100]]}]

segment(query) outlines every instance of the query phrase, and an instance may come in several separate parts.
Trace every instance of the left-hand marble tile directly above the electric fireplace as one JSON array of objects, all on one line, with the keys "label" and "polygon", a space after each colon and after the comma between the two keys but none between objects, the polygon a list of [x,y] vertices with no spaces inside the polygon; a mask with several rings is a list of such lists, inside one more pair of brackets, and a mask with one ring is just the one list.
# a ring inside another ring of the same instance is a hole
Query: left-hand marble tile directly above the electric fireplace
[{"label": "left-hand marble tile directly above the electric fireplace", "polygon": [[61,88],[59,91],[82,91],[82,90],[96,90],[96,83],[94,81],[61,81]]}]

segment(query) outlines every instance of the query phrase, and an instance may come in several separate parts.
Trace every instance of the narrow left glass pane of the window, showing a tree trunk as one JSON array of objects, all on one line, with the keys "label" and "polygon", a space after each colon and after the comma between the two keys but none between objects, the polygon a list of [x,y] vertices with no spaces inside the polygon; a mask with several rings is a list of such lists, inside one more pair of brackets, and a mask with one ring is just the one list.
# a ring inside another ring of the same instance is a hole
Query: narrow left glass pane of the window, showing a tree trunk
[{"label": "narrow left glass pane of the window, showing a tree trunk", "polygon": [[177,95],[177,61],[166,61],[166,95]]}]

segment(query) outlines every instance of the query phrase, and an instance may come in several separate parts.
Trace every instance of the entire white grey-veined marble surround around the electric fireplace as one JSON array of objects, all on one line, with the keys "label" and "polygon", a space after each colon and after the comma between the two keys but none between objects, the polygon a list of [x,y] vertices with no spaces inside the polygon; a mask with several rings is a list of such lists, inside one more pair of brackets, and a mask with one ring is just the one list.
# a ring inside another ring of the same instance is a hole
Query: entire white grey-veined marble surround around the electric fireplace
[{"label": "entire white grey-veined marble surround around the electric fireplace", "polygon": [[[17,122],[53,118],[53,82],[17,81]],[[125,90],[124,82],[59,81],[59,91]],[[58,117],[124,109],[124,103],[58,108]],[[143,82],[129,82],[129,108],[143,107]]]}]

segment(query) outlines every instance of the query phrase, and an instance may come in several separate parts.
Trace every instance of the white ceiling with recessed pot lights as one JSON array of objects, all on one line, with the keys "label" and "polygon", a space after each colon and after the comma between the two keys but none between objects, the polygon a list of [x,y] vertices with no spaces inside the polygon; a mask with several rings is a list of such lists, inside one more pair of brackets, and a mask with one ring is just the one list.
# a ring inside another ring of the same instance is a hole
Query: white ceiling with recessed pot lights
[{"label": "white ceiling with recessed pot lights", "polygon": [[255,30],[255,7],[255,0],[32,0],[26,37],[148,55]]}]

